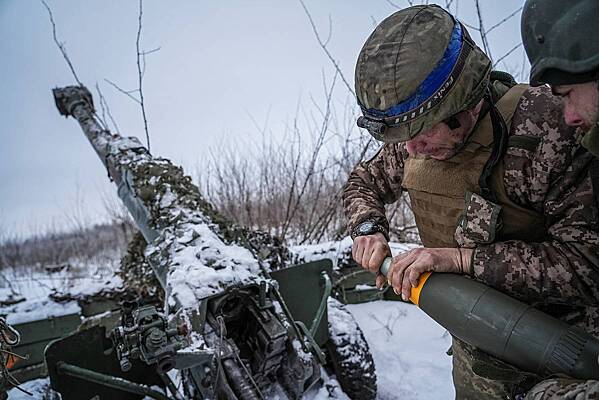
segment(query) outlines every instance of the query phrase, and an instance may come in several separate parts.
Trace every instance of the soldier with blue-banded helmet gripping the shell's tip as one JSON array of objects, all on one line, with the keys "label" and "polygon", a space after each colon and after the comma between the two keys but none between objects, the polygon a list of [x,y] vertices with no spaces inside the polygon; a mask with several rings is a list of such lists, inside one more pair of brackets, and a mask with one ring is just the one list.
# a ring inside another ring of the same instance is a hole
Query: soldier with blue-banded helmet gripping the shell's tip
[{"label": "soldier with blue-banded helmet gripping the shell's tip", "polygon": [[[381,22],[360,52],[356,94],[358,125],[385,142],[343,193],[359,264],[377,273],[390,255],[385,204],[405,190],[424,247],[393,259],[396,293],[407,298],[425,271],[466,274],[599,335],[594,157],[559,97],[491,72],[437,6]],[[458,399],[515,398],[544,378],[456,338],[452,348]]]}]

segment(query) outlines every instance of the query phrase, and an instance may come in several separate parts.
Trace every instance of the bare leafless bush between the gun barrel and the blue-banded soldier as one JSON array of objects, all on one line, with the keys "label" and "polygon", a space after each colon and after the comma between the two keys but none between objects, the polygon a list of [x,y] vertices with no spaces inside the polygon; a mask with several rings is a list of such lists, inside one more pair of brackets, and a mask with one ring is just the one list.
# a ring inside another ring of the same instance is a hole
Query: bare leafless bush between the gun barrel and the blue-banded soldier
[{"label": "bare leafless bush between the gun barrel and the blue-banded soldier", "polygon": [[[285,136],[244,144],[243,151],[219,149],[198,168],[199,187],[228,218],[292,244],[339,240],[346,236],[341,193],[355,165],[380,144],[356,125],[351,98],[340,107],[331,100],[335,79],[314,113],[299,107]],[[300,118],[301,117],[301,118]],[[395,240],[414,241],[417,233],[405,197],[389,208]]]}]

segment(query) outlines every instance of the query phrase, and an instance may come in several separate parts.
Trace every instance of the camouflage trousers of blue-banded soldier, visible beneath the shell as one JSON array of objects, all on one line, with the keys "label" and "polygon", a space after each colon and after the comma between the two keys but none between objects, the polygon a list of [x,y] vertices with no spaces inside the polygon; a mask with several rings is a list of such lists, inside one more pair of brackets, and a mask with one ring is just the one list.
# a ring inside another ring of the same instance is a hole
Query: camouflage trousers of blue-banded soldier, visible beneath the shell
[{"label": "camouflage trousers of blue-banded soldier, visible beneath the shell", "polygon": [[541,381],[541,377],[500,361],[455,337],[451,348],[457,400],[518,399],[522,398],[519,394]]}]

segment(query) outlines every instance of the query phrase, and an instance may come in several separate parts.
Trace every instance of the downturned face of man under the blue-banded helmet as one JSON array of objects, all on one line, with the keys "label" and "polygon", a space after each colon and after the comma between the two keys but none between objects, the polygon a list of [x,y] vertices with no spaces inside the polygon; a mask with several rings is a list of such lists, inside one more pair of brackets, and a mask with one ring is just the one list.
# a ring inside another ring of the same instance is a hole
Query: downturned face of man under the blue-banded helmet
[{"label": "downturned face of man under the blue-banded helmet", "polygon": [[462,111],[455,117],[460,127],[451,129],[445,122],[439,122],[431,129],[419,133],[406,142],[406,150],[410,155],[425,155],[435,160],[447,160],[455,156],[472,132],[480,112],[481,103],[472,110]]}]

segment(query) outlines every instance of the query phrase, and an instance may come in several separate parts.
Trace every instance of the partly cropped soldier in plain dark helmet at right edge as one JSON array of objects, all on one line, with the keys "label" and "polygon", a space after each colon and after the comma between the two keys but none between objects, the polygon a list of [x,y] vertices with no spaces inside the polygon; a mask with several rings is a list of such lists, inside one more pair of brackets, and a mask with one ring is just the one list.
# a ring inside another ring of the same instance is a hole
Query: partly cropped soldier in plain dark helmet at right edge
[{"label": "partly cropped soldier in plain dark helmet at right edge", "polygon": [[[530,83],[549,84],[553,93],[563,98],[566,123],[586,131],[582,145],[595,157],[599,157],[598,19],[596,0],[528,0],[522,12]],[[590,174],[597,196],[599,161],[591,164]],[[599,399],[599,381],[552,377],[533,387],[525,398]]]}]

